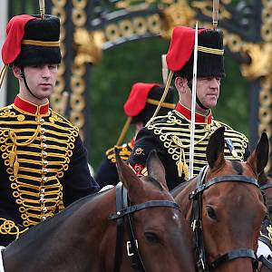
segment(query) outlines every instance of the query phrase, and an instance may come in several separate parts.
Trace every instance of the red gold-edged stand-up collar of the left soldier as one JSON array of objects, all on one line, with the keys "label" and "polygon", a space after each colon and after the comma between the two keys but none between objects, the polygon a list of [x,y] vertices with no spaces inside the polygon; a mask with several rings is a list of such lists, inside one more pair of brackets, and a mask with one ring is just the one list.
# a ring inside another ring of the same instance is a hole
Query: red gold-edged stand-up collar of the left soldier
[{"label": "red gold-edged stand-up collar of the left soldier", "polygon": [[34,114],[34,115],[44,115],[47,112],[49,112],[49,102],[47,102],[44,105],[35,105],[32,102],[27,102],[23,98],[21,98],[19,95],[15,98],[15,107],[17,107],[19,110],[22,110],[24,112]]}]

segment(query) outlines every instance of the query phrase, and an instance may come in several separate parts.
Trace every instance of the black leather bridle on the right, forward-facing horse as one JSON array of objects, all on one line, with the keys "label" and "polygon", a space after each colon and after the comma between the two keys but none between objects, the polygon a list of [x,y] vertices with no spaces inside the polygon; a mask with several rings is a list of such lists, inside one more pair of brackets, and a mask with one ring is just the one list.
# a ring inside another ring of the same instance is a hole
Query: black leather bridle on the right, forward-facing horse
[{"label": "black leather bridle on the right, forward-facing horse", "polygon": [[194,232],[194,238],[197,247],[198,253],[198,268],[199,271],[209,272],[209,267],[211,269],[215,269],[219,267],[222,263],[236,259],[238,257],[249,257],[252,260],[252,265],[254,269],[257,270],[257,255],[251,248],[238,248],[234,250],[230,250],[224,255],[218,257],[215,261],[208,265],[205,248],[204,248],[204,238],[203,238],[203,228],[202,228],[202,193],[205,189],[208,189],[210,186],[214,184],[218,184],[220,182],[226,181],[238,181],[238,182],[246,182],[249,184],[253,184],[259,188],[257,180],[253,178],[249,178],[241,175],[229,175],[229,176],[221,176],[213,178],[204,183],[204,179],[206,176],[208,167],[203,168],[199,172],[197,187],[194,191],[189,194],[189,199],[192,199],[192,228]]}]

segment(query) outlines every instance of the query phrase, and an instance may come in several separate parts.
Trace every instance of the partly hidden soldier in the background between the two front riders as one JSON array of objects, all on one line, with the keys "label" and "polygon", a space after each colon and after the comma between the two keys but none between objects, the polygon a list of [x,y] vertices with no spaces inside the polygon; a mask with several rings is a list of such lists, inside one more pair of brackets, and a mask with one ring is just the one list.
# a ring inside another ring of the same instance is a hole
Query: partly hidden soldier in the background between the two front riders
[{"label": "partly hidden soldier in the background between the two front riders", "polygon": [[[160,102],[160,98],[164,91],[164,86],[158,83],[134,83],[131,87],[130,95],[123,105],[123,111],[128,119],[121,131],[121,135],[116,143],[122,160],[128,160],[134,147],[135,137],[138,131],[151,119]],[[170,88],[170,92],[165,98],[160,108],[160,115],[167,115],[170,110],[174,109],[174,90]],[[134,136],[129,142],[122,143],[125,133],[129,127],[133,125]],[[119,182],[116,170],[116,158],[114,148],[106,151],[106,158],[102,160],[102,164],[95,176],[95,180],[100,187],[107,185],[117,185]]]}]

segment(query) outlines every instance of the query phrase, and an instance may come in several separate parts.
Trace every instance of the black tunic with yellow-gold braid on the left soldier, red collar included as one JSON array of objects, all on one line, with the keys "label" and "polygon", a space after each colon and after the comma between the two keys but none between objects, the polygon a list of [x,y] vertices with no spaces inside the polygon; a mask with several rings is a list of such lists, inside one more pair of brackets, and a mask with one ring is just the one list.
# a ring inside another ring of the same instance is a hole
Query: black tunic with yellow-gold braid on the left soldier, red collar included
[{"label": "black tunic with yellow-gold braid on the left soldier, red collar included", "polygon": [[19,96],[0,110],[0,245],[99,187],[79,131],[63,116]]}]

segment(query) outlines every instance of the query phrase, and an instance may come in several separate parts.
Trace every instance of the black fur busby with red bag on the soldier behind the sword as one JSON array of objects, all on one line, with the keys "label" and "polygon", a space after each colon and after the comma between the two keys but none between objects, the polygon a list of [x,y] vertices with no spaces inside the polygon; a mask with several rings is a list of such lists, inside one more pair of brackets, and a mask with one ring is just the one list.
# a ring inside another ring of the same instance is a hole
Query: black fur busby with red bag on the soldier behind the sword
[{"label": "black fur busby with red bag on the soldier behind the sword", "polygon": [[[167,63],[175,75],[192,78],[195,29],[178,26],[174,29],[167,54]],[[219,30],[199,29],[198,77],[224,77],[223,34]]]}]

